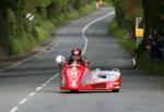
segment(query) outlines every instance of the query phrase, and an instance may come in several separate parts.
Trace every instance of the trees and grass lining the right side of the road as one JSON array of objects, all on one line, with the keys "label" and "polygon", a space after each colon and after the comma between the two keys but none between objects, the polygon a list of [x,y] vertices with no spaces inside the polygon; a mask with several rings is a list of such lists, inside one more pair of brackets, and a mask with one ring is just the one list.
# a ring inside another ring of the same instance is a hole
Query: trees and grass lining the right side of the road
[{"label": "trees and grass lining the right side of the road", "polygon": [[[164,1],[163,0],[122,0],[122,2],[125,2],[124,5],[116,5],[116,3],[118,3],[119,0],[113,0],[113,3],[116,8],[117,11],[119,11],[120,9],[125,10],[125,11],[120,11],[120,15],[117,16],[121,16],[122,14],[125,14],[126,12],[126,16],[128,17],[128,27],[126,28],[130,28],[132,29],[132,26],[134,26],[134,17],[137,16],[143,16],[143,22],[144,22],[144,38],[143,41],[141,43],[141,46],[139,46],[138,48],[138,52],[139,52],[139,59],[138,59],[138,67],[145,70],[150,73],[153,74],[160,74],[160,75],[164,75],[164,60],[161,61],[152,61],[149,52],[145,51],[145,46],[147,46],[147,41],[148,41],[148,37],[151,33],[152,29],[157,30],[160,34],[164,34],[163,30],[163,26],[164,26]],[[120,3],[121,4],[121,3]],[[119,13],[116,13],[119,14]],[[122,17],[124,20],[124,17]],[[119,23],[119,18],[117,18],[117,23],[120,25]],[[109,30],[113,35],[115,35],[116,37],[119,37],[122,45],[129,49],[128,51],[132,51],[132,49],[134,50],[134,42],[132,43],[132,41],[130,39],[125,39],[125,33],[124,33],[124,28],[118,28],[117,27],[117,23],[114,22],[112,24],[109,24]],[[129,32],[129,29],[127,29]],[[132,30],[130,30],[131,33]],[[126,42],[125,42],[126,41]],[[132,49],[130,49],[132,48]]]}]

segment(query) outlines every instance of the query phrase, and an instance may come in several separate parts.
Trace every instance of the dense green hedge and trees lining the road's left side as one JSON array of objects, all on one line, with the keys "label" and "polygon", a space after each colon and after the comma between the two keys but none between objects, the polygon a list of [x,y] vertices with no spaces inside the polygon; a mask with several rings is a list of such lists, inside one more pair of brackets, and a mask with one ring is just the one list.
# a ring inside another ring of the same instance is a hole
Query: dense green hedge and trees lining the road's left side
[{"label": "dense green hedge and trees lining the road's left side", "polygon": [[[0,0],[0,47],[7,55],[25,53],[48,37],[54,25],[84,14],[82,8],[92,1]],[[33,21],[26,18],[28,13],[34,15]]]}]

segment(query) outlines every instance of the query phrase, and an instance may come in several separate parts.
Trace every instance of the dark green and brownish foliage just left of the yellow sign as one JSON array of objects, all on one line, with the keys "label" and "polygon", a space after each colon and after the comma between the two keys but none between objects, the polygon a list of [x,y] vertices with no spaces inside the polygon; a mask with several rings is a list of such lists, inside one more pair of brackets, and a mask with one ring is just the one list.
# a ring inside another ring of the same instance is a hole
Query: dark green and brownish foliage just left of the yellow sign
[{"label": "dark green and brownish foliage just left of the yellow sign", "polygon": [[142,17],[141,0],[112,0],[116,10],[116,18],[118,25],[126,27],[127,32],[132,34],[134,38],[136,33],[136,17]]}]

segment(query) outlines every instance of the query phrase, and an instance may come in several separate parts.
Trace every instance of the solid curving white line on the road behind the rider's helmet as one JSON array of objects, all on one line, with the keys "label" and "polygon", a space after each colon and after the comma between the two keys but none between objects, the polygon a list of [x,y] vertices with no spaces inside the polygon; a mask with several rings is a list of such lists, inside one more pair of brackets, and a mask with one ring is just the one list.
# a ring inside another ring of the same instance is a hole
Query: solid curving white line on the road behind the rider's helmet
[{"label": "solid curving white line on the road behind the rider's helmet", "polygon": [[84,53],[85,53],[85,51],[86,51],[86,48],[87,48],[87,37],[85,36],[86,29],[87,29],[92,24],[94,24],[94,23],[96,23],[96,22],[98,22],[98,21],[101,21],[101,20],[103,20],[103,18],[105,18],[105,17],[107,17],[107,16],[114,15],[114,14],[115,14],[115,11],[113,11],[113,12],[110,12],[110,13],[104,15],[104,16],[101,16],[101,17],[98,17],[98,18],[96,18],[96,20],[90,22],[89,24],[86,24],[86,25],[82,28],[82,36],[83,36],[83,38],[84,38],[84,40],[85,40],[84,49],[83,49],[83,52],[82,52],[83,55],[84,55]]}]

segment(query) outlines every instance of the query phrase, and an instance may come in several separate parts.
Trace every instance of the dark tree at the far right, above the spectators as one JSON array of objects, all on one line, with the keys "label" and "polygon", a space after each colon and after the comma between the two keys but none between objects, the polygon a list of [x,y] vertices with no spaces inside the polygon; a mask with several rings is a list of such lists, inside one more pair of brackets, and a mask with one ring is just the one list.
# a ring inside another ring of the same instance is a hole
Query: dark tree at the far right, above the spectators
[{"label": "dark tree at the far right, above the spectators", "polygon": [[148,37],[151,30],[164,33],[161,28],[164,27],[164,1],[163,0],[142,0],[143,20],[144,20],[144,38],[141,43],[141,49],[144,51],[148,42]]}]

